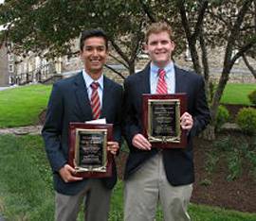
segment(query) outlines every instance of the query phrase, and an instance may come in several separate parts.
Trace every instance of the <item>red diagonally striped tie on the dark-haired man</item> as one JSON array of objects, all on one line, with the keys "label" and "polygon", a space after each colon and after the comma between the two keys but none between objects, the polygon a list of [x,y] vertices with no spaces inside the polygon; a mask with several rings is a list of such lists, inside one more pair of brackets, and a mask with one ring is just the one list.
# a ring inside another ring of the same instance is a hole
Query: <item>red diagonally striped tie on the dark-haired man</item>
[{"label": "red diagonally striped tie on the dark-haired man", "polygon": [[94,119],[99,119],[101,116],[101,101],[98,93],[100,84],[98,82],[91,83],[92,95],[91,95],[91,107]]}]

